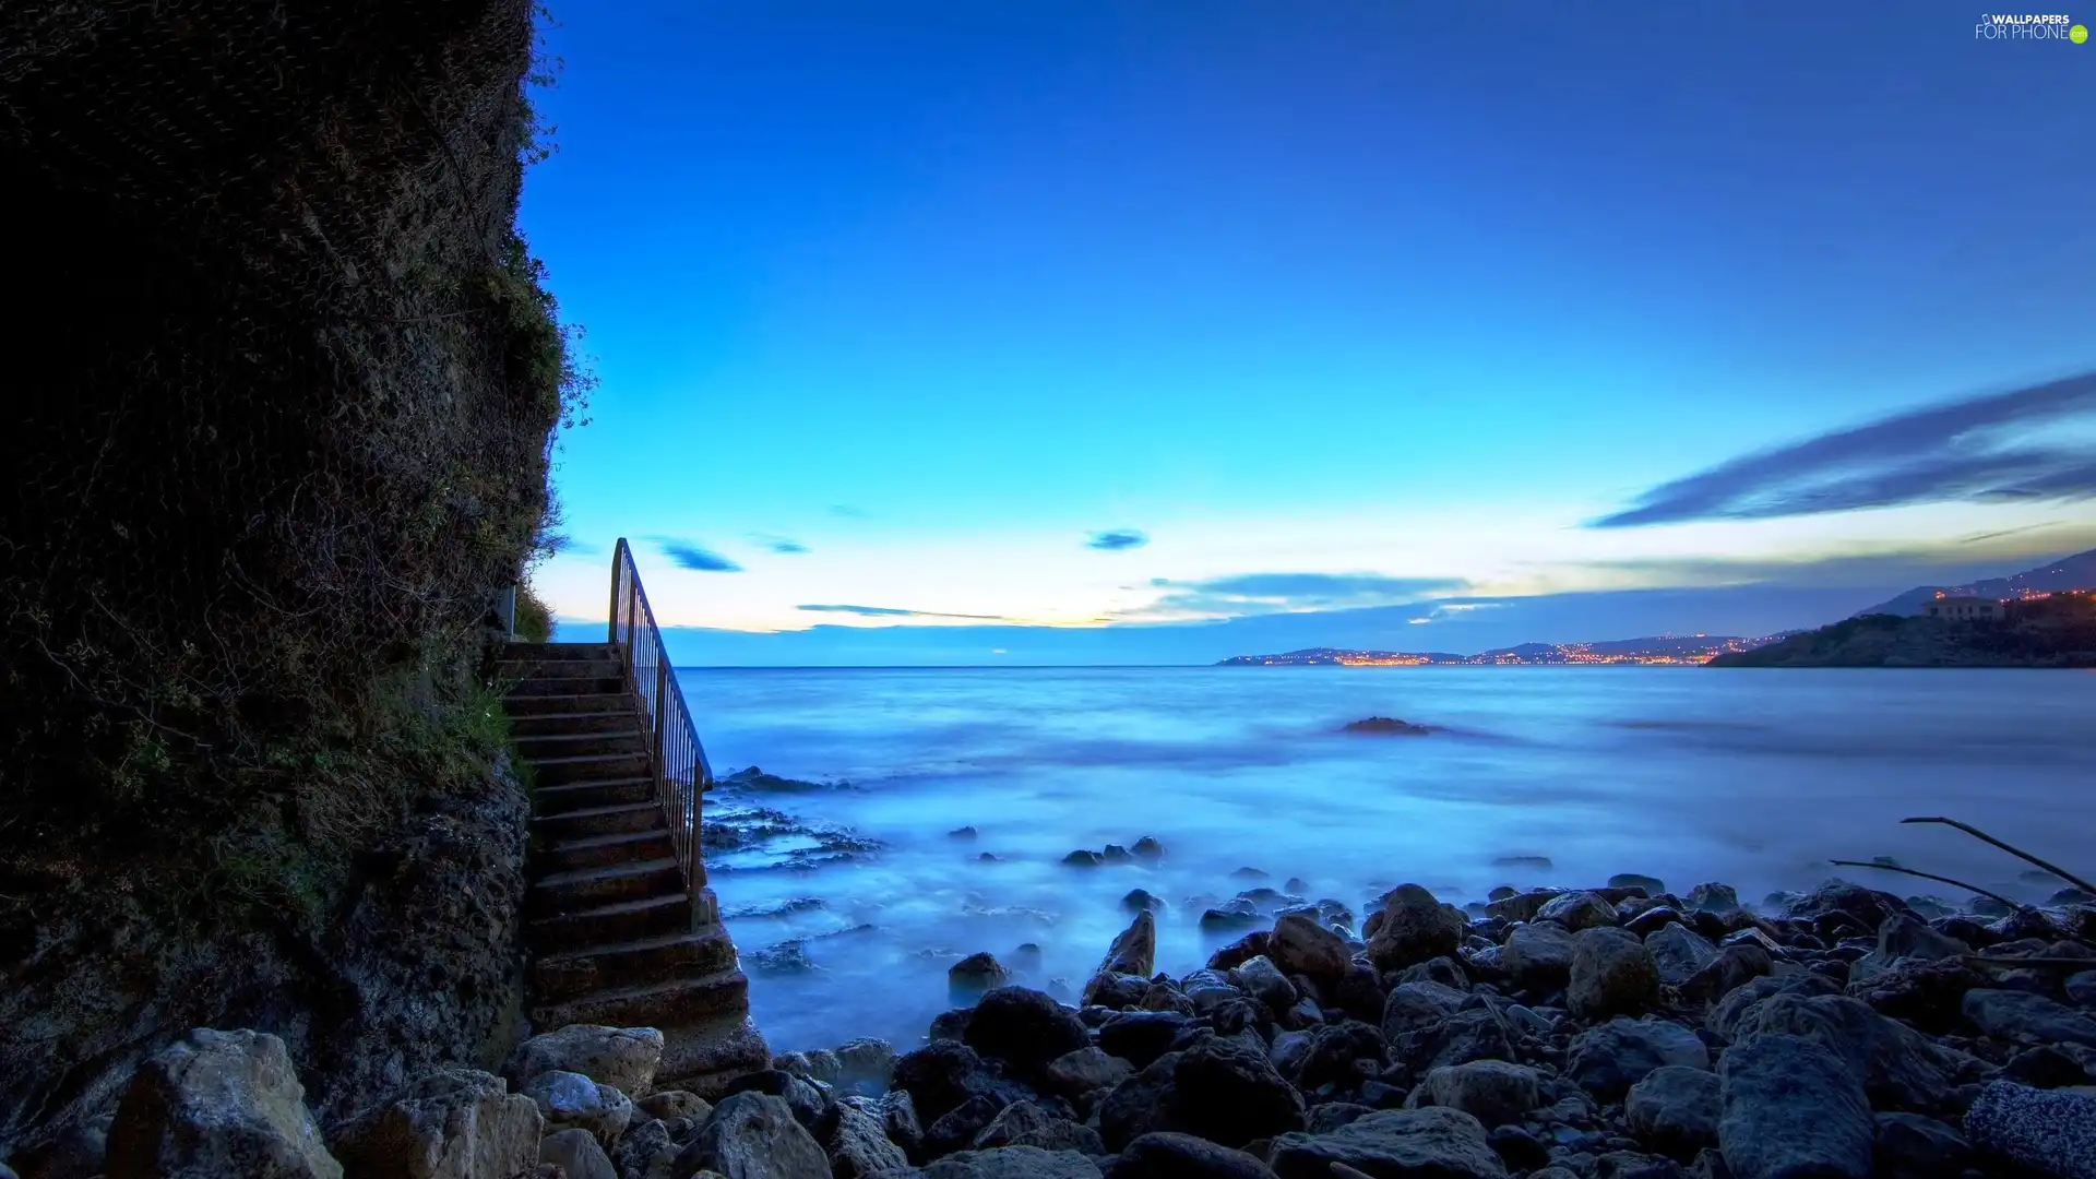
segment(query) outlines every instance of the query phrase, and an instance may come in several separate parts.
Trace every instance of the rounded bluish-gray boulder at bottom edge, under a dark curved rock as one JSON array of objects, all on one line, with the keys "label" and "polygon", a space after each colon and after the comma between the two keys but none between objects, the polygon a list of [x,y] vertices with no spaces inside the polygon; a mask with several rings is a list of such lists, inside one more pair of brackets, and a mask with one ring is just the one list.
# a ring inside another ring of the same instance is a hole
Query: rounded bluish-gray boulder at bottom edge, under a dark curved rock
[{"label": "rounded bluish-gray boulder at bottom edge, under a dark curved rock", "polygon": [[1876,1122],[1863,1085],[1826,1047],[1750,1034],[1719,1064],[1719,1152],[1733,1179],[1868,1179]]}]

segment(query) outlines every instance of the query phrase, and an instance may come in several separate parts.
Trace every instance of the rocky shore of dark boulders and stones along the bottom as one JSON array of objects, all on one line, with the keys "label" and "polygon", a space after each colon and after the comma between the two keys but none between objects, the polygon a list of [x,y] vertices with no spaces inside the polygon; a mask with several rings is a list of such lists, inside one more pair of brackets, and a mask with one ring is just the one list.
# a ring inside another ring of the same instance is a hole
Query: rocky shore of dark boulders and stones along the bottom
[{"label": "rocky shore of dark boulders and stones along the bottom", "polygon": [[[283,1045],[147,1062],[78,1175],[459,1179],[2096,1177],[2096,906],[1650,877],[1285,906],[1182,978],[1155,915],[1079,1003],[956,963],[926,1043],[784,1053],[715,1103],[660,1034],[562,1028],[325,1133]],[[105,1166],[103,1166],[105,1162]],[[0,1166],[0,1175],[6,1169]]]}]

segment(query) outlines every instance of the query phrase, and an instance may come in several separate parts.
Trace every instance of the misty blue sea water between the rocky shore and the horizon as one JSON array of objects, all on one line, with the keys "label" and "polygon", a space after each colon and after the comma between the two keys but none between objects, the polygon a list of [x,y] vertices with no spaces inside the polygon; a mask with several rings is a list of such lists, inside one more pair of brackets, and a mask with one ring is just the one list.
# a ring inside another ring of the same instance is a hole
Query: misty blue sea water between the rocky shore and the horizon
[{"label": "misty blue sea water between the rocky shore and the horizon", "polygon": [[[1744,900],[1811,887],[1828,858],[1909,866],[2042,898],[2025,864],[1947,814],[2090,862],[2096,673],[1712,669],[687,669],[723,787],[713,887],[776,1049],[859,1034],[916,1043],[945,967],[989,950],[1079,986],[1128,921],[1170,902],[1159,969],[1220,942],[1201,898],[1302,877],[1356,915],[1417,881],[1444,900],[1501,883],[1706,879]],[[1394,715],[1446,732],[1346,736]],[[947,833],[975,827],[975,841]],[[1151,866],[1073,869],[1073,848],[1155,835]],[[996,862],[979,856],[991,852]],[[1497,860],[1545,856],[1549,866]],[[1270,873],[1235,879],[1237,869]],[[2073,864],[2069,864],[2073,866]],[[1893,877],[1901,894],[1953,889]],[[1193,904],[1188,904],[1193,902]],[[799,942],[803,965],[771,967]],[[1021,944],[1040,946],[1038,957]]]}]

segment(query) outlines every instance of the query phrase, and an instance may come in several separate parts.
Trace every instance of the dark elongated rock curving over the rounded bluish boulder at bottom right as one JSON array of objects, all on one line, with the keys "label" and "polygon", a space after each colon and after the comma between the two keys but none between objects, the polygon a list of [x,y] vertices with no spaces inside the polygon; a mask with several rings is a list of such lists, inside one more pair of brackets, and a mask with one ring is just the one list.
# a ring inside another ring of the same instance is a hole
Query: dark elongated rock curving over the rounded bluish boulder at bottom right
[{"label": "dark elongated rock curving over the rounded bluish boulder at bottom right", "polygon": [[1775,994],[1748,1009],[1740,1038],[1786,1032],[1828,1047],[1880,1110],[1930,1112],[1951,1103],[1964,1057],[1847,994]]}]

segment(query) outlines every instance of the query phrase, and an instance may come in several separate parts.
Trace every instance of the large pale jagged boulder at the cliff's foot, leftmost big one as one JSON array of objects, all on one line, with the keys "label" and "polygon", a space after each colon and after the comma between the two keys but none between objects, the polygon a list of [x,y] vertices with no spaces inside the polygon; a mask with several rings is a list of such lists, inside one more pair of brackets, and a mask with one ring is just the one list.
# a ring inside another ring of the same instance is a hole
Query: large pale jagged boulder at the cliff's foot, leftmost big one
[{"label": "large pale jagged boulder at the cliff's foot, leftmost big one", "polygon": [[132,1074],[109,1179],[342,1179],[283,1041],[195,1028]]}]

